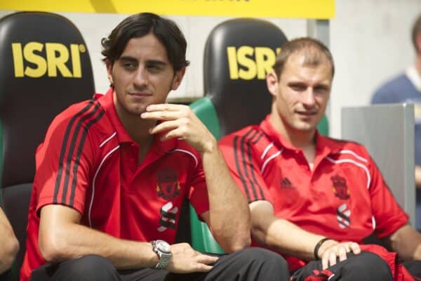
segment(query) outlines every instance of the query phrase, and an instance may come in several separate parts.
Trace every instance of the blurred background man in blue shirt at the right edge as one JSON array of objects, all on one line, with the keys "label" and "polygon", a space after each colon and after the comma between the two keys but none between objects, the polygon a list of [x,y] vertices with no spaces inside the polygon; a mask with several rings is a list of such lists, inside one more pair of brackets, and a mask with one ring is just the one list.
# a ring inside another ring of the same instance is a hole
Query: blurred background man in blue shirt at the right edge
[{"label": "blurred background man in blue shirt at the right edge", "polygon": [[411,39],[414,64],[377,89],[371,103],[412,103],[415,108],[415,227],[421,231],[421,14],[416,18]]}]

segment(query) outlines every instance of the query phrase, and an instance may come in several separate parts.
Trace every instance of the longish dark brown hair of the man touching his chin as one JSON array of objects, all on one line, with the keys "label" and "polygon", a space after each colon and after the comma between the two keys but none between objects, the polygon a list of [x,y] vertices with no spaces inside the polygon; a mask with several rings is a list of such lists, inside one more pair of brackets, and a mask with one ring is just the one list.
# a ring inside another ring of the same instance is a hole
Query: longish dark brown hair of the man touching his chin
[{"label": "longish dark brown hair of the man touching his chin", "polygon": [[131,15],[117,25],[107,38],[102,38],[103,61],[112,65],[118,60],[126,48],[127,42],[132,38],[143,37],[149,33],[166,48],[168,60],[174,71],[189,65],[186,60],[187,42],[178,26],[173,20],[162,18],[154,13],[138,13]]}]

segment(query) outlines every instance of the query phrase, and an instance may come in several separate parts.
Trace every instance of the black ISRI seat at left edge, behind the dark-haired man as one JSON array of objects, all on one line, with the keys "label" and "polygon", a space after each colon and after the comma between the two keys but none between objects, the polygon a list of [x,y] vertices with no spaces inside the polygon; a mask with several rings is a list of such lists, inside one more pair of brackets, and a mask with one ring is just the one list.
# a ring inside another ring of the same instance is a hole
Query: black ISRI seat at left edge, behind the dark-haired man
[{"label": "black ISRI seat at left edge, behind the dark-haired man", "polygon": [[61,15],[6,15],[0,19],[0,41],[0,194],[20,242],[9,278],[18,280],[36,147],[53,117],[91,98],[95,86],[85,41]]}]

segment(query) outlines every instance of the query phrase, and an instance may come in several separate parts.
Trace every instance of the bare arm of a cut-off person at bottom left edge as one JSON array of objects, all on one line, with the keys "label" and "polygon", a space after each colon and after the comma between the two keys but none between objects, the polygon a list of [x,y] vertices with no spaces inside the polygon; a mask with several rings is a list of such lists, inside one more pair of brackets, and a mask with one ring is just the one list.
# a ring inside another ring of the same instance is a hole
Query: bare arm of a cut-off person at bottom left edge
[{"label": "bare arm of a cut-off person at bottom left edge", "polygon": [[19,242],[13,233],[11,223],[0,207],[0,274],[11,268],[18,250]]}]

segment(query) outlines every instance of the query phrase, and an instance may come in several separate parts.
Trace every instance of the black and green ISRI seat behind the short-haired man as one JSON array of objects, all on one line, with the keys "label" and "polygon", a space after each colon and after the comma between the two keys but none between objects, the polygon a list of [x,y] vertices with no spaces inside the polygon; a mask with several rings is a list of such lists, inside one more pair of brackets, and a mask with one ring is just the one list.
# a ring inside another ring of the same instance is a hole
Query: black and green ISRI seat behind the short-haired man
[{"label": "black and green ISRI seat behind the short-haired man", "polygon": [[[210,32],[203,59],[204,96],[190,107],[215,138],[259,124],[269,114],[272,96],[265,78],[286,41],[279,27],[253,18],[227,20]],[[319,131],[328,134],[326,118]],[[192,207],[190,214],[194,249],[222,253]]]}]

